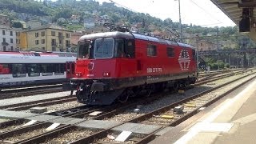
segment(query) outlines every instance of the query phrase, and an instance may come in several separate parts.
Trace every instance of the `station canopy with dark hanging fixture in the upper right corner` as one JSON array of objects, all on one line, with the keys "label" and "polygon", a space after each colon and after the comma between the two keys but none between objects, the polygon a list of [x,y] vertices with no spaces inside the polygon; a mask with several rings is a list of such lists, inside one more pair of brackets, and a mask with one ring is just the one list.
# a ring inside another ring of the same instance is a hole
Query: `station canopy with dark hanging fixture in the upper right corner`
[{"label": "station canopy with dark hanging fixture in the upper right corner", "polygon": [[256,41],[256,0],[211,0],[237,26]]}]

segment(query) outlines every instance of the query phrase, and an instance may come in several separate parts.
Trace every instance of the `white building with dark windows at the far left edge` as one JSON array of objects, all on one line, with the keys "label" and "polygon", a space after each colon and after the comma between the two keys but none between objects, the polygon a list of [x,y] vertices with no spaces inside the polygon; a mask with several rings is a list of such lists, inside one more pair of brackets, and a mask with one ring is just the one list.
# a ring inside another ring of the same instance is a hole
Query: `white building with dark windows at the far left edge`
[{"label": "white building with dark windows at the far left edge", "polygon": [[16,50],[16,30],[0,25],[0,51]]}]

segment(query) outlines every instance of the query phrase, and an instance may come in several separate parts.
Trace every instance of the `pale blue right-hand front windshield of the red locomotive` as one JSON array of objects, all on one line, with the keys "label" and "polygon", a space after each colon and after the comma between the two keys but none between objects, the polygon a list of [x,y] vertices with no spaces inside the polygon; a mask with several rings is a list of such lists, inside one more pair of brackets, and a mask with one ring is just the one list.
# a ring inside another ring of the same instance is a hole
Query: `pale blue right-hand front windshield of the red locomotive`
[{"label": "pale blue right-hand front windshield of the red locomotive", "polygon": [[114,54],[113,38],[98,38],[94,44],[94,58],[112,58]]}]

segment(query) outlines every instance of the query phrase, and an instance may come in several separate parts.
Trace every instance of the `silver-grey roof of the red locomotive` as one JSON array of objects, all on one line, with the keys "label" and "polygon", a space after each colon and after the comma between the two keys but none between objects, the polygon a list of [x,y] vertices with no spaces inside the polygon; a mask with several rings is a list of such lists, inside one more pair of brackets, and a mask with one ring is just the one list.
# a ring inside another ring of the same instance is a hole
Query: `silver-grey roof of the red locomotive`
[{"label": "silver-grey roof of the red locomotive", "polygon": [[82,41],[85,39],[93,40],[97,38],[129,38],[129,39],[136,38],[136,39],[142,39],[142,40],[151,41],[151,42],[159,42],[161,44],[166,44],[166,45],[194,48],[193,46],[190,46],[188,44],[181,43],[181,42],[174,42],[169,39],[152,37],[146,34],[138,34],[138,33],[132,33],[132,32],[119,32],[119,31],[87,34],[79,38],[79,41]]}]

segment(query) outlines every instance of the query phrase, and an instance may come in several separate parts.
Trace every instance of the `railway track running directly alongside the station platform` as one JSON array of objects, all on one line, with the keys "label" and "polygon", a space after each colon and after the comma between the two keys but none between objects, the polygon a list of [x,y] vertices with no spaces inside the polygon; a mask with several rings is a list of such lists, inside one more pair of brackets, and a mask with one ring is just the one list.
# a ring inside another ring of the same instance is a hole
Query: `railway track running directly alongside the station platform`
[{"label": "railway track running directly alongside the station platform", "polygon": [[[246,76],[242,77],[242,78],[246,78]],[[238,80],[241,80],[242,78],[238,78],[236,79],[235,81],[238,81]],[[255,78],[255,76],[254,76]],[[198,113],[198,110],[202,107],[206,107],[206,106],[210,106],[210,104],[212,104],[213,102],[216,102],[219,98],[222,98],[224,97],[226,94],[229,94],[232,90],[235,90],[237,89],[239,86],[242,86],[243,84],[245,84],[246,82],[249,82],[249,80],[246,80],[245,82],[242,82],[241,84],[239,84],[238,86],[234,86],[232,89],[230,90],[227,90],[225,93],[223,94],[220,94],[220,95],[216,95],[215,97],[212,97],[212,98],[204,98],[205,100],[208,99],[208,101],[204,102],[204,103],[200,103],[200,105],[198,106],[191,106],[191,107],[194,107],[194,110],[184,110],[183,114],[180,114],[179,116],[173,116],[174,120],[172,119],[170,122],[165,122],[165,124],[161,124],[161,128],[159,128],[158,130],[155,130],[152,134],[149,134],[145,137],[142,137],[142,138],[134,138],[136,141],[134,141],[133,139],[130,139],[129,141],[132,141],[132,142],[136,142],[136,143],[146,143],[146,142],[150,142],[150,140],[152,140],[152,138],[155,137],[155,134],[160,131],[160,130],[163,130],[164,128],[166,128],[167,126],[177,126],[179,123],[185,121],[187,118],[190,118],[191,116],[193,116],[194,114],[197,114]],[[144,123],[146,122],[146,120],[150,119],[150,118],[155,118],[154,116],[155,115],[159,115],[159,114],[166,114],[166,112],[168,111],[173,111],[173,109],[175,108],[175,106],[180,106],[180,105],[183,105],[183,104],[186,104],[188,107],[190,107],[190,103],[192,100],[196,100],[196,99],[199,99],[199,98],[203,98],[205,96],[205,94],[207,93],[210,93],[214,90],[218,90],[220,88],[222,88],[223,86],[228,86],[230,85],[232,82],[226,82],[225,84],[222,84],[220,86],[216,86],[210,90],[206,90],[200,94],[195,94],[193,96],[190,96],[189,98],[185,98],[185,99],[182,99],[181,101],[178,101],[178,102],[174,102],[168,106],[164,106],[158,110],[154,110],[154,111],[151,111],[147,114],[142,114],[142,115],[139,115],[138,117],[135,117],[135,118],[132,118],[128,121],[125,121],[125,122],[122,122],[121,124],[119,124],[118,126],[121,126],[127,122],[133,122],[133,123]],[[185,105],[185,106],[186,106]],[[82,138],[76,142],[73,142],[73,143],[89,143],[89,142],[94,142],[94,143],[104,143],[104,139],[106,139],[107,135],[111,133],[111,130],[114,129],[115,127],[117,126],[113,126],[113,127],[110,127],[109,129],[106,129],[106,130],[102,130],[101,132],[98,132],[96,134],[92,134],[90,135],[89,137],[87,138]],[[99,140],[98,140],[99,139]],[[128,142],[129,142],[128,141]]]}]

